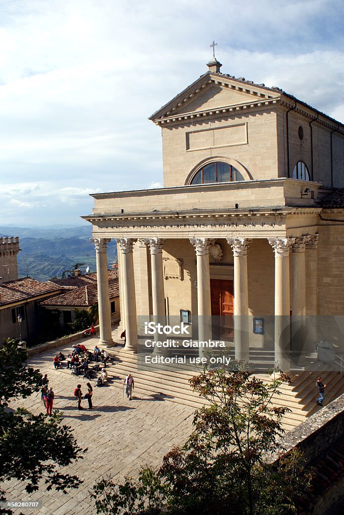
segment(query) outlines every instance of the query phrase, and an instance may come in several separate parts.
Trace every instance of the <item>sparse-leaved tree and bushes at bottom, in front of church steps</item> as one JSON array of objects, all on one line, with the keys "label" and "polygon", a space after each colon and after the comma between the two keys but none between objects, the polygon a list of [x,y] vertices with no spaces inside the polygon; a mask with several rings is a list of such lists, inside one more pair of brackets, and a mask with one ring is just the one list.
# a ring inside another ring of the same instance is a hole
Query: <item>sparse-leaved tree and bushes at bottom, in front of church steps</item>
[{"label": "sparse-leaved tree and bushes at bottom, in front of church steps", "polygon": [[[265,384],[246,371],[216,369],[190,382],[209,405],[195,412],[188,441],[172,449],[158,471],[142,469],[138,481],[102,479],[93,493],[97,513],[296,513],[297,495],[310,477],[298,452],[283,454],[281,420],[288,409],[271,402],[282,380]],[[276,452],[279,461],[269,464],[266,456]],[[155,492],[154,505],[147,491]]]}]

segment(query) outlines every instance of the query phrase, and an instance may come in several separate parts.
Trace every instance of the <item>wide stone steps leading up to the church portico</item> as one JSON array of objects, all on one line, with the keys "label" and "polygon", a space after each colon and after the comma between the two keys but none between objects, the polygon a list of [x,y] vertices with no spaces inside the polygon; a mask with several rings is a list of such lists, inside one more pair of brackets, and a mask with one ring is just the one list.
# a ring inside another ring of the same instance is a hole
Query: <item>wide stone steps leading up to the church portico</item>
[{"label": "wide stone steps leading up to the church portico", "polygon": [[[143,367],[138,366],[138,358],[140,356],[123,351],[121,348],[111,350],[111,354],[112,366],[108,369],[108,372],[109,379],[113,380],[112,386],[122,389],[124,377],[128,373],[132,373],[135,379],[134,395],[136,397],[153,397],[161,401],[184,404],[195,409],[202,407],[204,404],[209,404],[198,393],[193,392],[189,384],[189,379],[201,372],[202,367],[198,370],[195,368],[192,371],[183,369],[179,365],[174,368],[164,365],[164,370],[158,370],[154,369],[154,366],[144,365],[143,369]],[[269,362],[270,356],[267,353],[266,359],[262,359],[262,357],[264,356],[260,352],[253,374],[257,379],[269,383],[273,381],[273,376],[261,373],[260,366],[264,366],[266,370],[267,365],[263,364],[262,361]],[[319,364],[319,369],[317,370],[292,372],[290,374],[292,383],[282,383],[279,387],[281,393],[275,396],[273,405],[285,406],[291,409],[291,412],[283,420],[282,425],[285,431],[292,430],[304,421],[306,417],[310,417],[321,409],[321,406],[315,403],[315,398],[317,397],[315,383],[319,376],[322,377],[324,384],[328,383],[328,387],[325,390],[324,405],[337,398],[341,393],[344,393],[344,374],[326,370],[326,367],[324,364]]]}]

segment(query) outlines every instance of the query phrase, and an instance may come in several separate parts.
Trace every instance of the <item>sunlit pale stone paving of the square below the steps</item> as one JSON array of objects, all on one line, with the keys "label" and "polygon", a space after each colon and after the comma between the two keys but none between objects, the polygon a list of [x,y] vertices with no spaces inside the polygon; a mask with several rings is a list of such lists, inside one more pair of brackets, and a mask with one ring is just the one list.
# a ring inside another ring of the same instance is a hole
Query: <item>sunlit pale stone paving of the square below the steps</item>
[{"label": "sunlit pale stone paving of the square below the steps", "polygon": [[[115,338],[115,332],[113,333]],[[87,339],[87,347],[92,349],[97,338]],[[94,501],[89,490],[101,476],[110,475],[120,480],[125,475],[135,475],[141,466],[150,464],[158,466],[162,457],[173,445],[184,443],[191,432],[194,408],[177,404],[165,398],[135,393],[129,401],[118,383],[123,383],[123,374],[116,374],[116,362],[107,368],[108,383],[101,388],[94,386],[94,409],[87,410],[87,401],[83,401],[83,411],[78,411],[73,391],[78,383],[86,393],[87,380],[76,378],[64,366],[55,370],[52,357],[60,350],[66,354],[69,347],[59,347],[43,354],[33,356],[29,364],[39,368],[43,374],[48,373],[49,386],[55,391],[53,408],[63,413],[64,423],[74,430],[81,448],[88,448],[84,459],[68,467],[70,474],[77,474],[84,480],[78,490],[66,495],[60,492],[39,492],[27,494],[25,484],[13,480],[3,485],[8,492],[8,501],[41,501],[42,507],[30,510],[21,508],[25,515],[66,515],[77,513],[96,513]],[[116,348],[109,349],[110,355],[116,356]],[[135,376],[135,370],[128,370]],[[15,406],[25,406],[33,413],[44,410],[40,394],[34,393],[29,399],[16,402]]]}]

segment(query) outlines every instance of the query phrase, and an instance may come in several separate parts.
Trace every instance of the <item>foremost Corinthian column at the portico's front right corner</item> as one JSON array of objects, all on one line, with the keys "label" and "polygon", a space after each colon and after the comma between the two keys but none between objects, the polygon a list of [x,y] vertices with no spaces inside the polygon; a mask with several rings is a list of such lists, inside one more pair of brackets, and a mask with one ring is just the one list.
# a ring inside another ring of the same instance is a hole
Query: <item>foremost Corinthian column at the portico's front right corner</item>
[{"label": "foremost Corinthian column at the portico's front right corner", "polygon": [[275,362],[290,369],[289,250],[295,238],[268,238],[275,252]]}]

